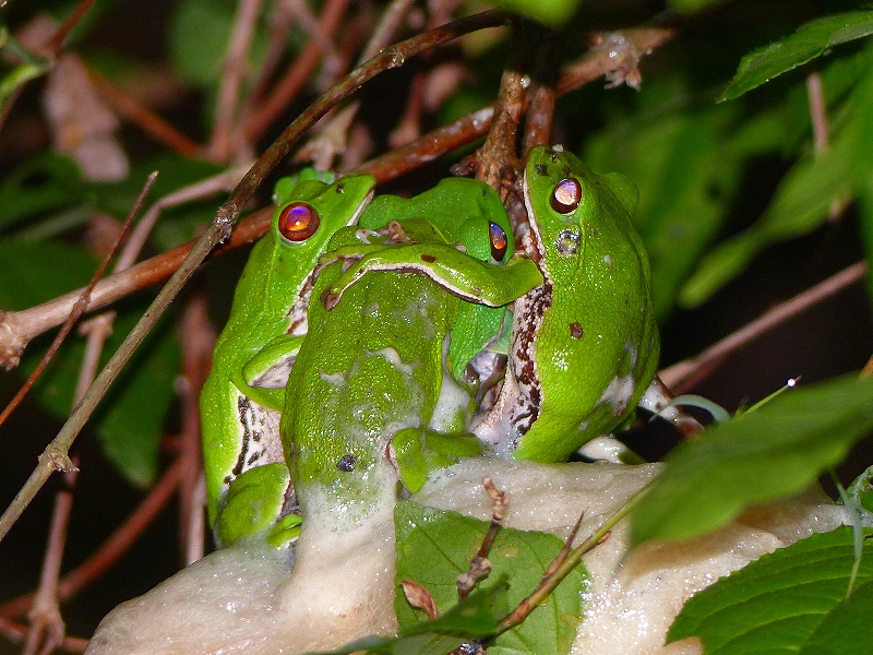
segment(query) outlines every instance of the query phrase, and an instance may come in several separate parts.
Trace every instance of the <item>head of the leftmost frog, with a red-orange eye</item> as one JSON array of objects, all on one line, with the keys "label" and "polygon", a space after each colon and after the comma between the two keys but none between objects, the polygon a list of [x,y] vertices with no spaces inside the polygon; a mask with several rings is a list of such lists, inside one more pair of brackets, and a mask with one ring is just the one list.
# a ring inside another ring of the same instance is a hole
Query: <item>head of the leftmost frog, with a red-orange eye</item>
[{"label": "head of the leftmost frog, with a red-orange eye", "polygon": [[[373,196],[375,178],[371,175],[348,175],[332,183],[325,174],[308,174],[306,169],[290,181],[276,186],[278,206],[273,213],[271,229],[277,240],[302,253],[318,254],[339,228],[352,225]],[[289,178],[286,178],[289,179]]]}]

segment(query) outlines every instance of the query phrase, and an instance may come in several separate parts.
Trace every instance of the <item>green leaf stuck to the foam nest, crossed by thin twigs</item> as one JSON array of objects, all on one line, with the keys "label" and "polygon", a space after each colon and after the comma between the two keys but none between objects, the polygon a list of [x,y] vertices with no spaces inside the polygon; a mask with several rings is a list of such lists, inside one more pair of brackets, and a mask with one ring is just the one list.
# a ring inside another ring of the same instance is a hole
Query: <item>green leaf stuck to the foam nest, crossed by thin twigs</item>
[{"label": "green leaf stuck to the foam nest, crossed by thin twigs", "polygon": [[[402,501],[395,510],[395,525],[398,584],[404,579],[421,583],[440,611],[445,612],[457,603],[457,575],[467,571],[489,523]],[[502,607],[504,614],[536,588],[562,547],[561,539],[553,535],[501,528],[489,559],[491,576],[505,575],[510,581],[506,605]],[[582,617],[581,592],[587,584],[587,572],[577,567],[521,626],[494,640],[488,648],[489,655],[569,653]],[[419,621],[418,612],[399,591],[395,610],[403,629]]]}]

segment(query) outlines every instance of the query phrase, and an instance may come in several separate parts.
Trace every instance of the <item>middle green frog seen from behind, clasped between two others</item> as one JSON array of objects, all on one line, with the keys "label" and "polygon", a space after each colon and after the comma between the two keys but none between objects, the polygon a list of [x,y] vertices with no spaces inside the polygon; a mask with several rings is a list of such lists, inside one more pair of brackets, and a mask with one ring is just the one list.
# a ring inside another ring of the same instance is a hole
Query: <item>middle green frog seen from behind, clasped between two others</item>
[{"label": "middle green frog seen from behind, clasped between two others", "polygon": [[[483,184],[462,187],[482,193]],[[464,302],[446,294],[443,283],[451,277],[451,290],[494,307],[541,284],[528,260],[512,272],[494,265],[512,252],[510,234],[501,205],[488,218],[479,210],[465,219],[442,207],[381,230],[346,228],[331,240],[313,291],[331,309],[310,306],[310,330],[282,416],[304,534],[311,516],[345,532],[393,508],[395,465],[415,489],[427,475],[423,468],[441,457],[479,453],[478,440],[467,432],[470,395],[445,364]],[[358,261],[344,273],[336,260],[346,259]]]}]

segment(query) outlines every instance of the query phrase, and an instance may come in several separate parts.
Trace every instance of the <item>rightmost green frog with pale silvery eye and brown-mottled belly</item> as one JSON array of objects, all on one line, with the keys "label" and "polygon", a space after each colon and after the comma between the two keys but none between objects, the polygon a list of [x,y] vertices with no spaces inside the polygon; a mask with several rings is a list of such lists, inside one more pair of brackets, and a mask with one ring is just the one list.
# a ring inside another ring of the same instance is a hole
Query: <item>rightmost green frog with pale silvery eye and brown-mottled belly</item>
[{"label": "rightmost green frog with pale silvery eye and brown-mottled belly", "polygon": [[560,462],[636,406],[660,343],[633,182],[538,146],[524,195],[546,283],[515,302],[504,385],[474,431],[501,456]]}]

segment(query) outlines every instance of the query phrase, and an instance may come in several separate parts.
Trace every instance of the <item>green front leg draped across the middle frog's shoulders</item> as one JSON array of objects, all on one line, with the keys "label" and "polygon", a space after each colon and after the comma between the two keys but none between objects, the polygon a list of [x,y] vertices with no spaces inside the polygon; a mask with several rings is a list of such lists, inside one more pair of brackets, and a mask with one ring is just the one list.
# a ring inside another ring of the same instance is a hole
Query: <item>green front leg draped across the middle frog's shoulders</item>
[{"label": "green front leg draped across the middle frog's shoulders", "polygon": [[343,273],[322,296],[324,307],[336,307],[350,286],[375,271],[418,273],[464,300],[489,307],[507,305],[543,282],[537,265],[522,255],[495,266],[447,243],[385,246],[368,251]]}]

